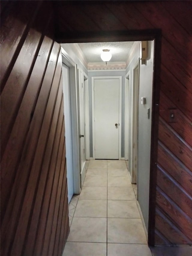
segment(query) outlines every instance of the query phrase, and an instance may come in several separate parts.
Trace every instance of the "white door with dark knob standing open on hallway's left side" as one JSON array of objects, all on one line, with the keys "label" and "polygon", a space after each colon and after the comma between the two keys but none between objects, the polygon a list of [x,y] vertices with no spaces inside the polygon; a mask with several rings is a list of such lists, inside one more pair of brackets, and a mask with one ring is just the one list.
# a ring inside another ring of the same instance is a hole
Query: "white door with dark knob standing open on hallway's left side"
[{"label": "white door with dark knob standing open on hallway's left side", "polygon": [[83,72],[81,69],[78,69],[78,80],[79,80],[79,151],[80,151],[80,182],[81,186],[85,179],[85,107],[84,107],[84,81],[83,81]]}]

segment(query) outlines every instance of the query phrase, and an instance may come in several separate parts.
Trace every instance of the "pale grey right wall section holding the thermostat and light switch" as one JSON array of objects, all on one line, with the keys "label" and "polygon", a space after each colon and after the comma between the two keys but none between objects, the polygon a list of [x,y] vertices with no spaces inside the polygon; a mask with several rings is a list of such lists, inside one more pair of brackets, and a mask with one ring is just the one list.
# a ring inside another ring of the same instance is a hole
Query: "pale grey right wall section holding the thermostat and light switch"
[{"label": "pale grey right wall section holding the thermostat and light switch", "polygon": [[[146,228],[148,229],[154,41],[147,42],[147,51],[146,65],[140,64],[137,195]],[[140,104],[141,97],[146,97],[145,105]],[[147,118],[147,108],[150,108],[149,119]]]}]

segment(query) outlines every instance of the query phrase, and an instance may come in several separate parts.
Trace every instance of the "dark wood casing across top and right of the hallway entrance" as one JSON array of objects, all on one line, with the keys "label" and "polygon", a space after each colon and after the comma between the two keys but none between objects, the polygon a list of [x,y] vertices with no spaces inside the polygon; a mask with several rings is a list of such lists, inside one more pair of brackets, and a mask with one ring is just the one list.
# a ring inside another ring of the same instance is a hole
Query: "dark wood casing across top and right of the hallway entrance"
[{"label": "dark wood casing across top and right of the hallway entrance", "polygon": [[[119,41],[151,41],[154,40],[154,79],[152,94],[152,130],[150,152],[150,184],[149,184],[149,225],[148,244],[155,245],[155,208],[157,186],[157,157],[158,157],[158,122],[161,73],[161,29],[132,29],[124,31],[99,32],[67,32],[56,34],[58,43],[90,43],[90,42],[119,42]],[[78,134],[79,136],[79,134]],[[77,138],[78,140],[78,138]],[[78,156],[77,156],[78,157]]]}]

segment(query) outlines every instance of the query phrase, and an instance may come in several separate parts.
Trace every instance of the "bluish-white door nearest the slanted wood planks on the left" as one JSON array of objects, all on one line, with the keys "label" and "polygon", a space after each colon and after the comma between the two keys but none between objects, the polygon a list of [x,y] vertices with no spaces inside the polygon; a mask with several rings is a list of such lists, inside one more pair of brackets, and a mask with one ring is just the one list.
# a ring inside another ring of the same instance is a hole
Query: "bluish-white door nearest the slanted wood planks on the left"
[{"label": "bluish-white door nearest the slanted wood planks on the left", "polygon": [[70,104],[69,67],[67,67],[64,63],[62,64],[62,78],[63,78],[64,119],[65,119],[65,146],[66,146],[66,160],[67,160],[67,188],[68,188],[68,202],[70,202],[74,193],[71,104]]}]

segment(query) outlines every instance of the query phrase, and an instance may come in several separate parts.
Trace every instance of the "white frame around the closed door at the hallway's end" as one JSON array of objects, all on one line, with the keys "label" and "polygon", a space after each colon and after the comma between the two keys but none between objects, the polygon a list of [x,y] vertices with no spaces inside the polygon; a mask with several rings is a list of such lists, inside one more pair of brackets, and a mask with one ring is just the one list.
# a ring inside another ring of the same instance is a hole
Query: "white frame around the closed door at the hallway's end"
[{"label": "white frame around the closed door at the hallway's end", "polygon": [[122,77],[92,77],[91,88],[92,88],[92,134],[93,134],[93,159],[95,159],[95,91],[94,84],[97,79],[119,79],[119,160],[121,160],[121,129],[122,129]]}]

